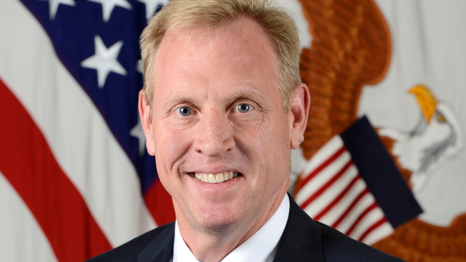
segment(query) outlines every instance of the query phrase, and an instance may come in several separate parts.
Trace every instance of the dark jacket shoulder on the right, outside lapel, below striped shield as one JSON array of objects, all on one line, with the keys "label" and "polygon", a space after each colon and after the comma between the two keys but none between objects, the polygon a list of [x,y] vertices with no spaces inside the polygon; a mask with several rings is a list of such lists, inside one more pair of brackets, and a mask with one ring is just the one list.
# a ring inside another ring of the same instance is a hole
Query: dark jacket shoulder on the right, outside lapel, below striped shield
[{"label": "dark jacket shoulder on the right, outside lapel, below striped shield", "polygon": [[404,260],[388,255],[363,242],[356,241],[340,231],[318,221],[322,237],[322,253],[325,261],[387,261],[402,262]]}]

